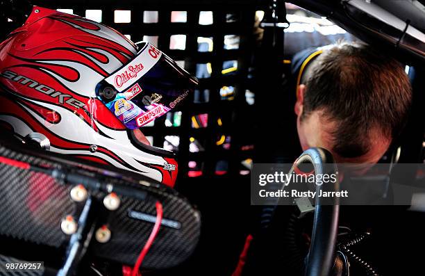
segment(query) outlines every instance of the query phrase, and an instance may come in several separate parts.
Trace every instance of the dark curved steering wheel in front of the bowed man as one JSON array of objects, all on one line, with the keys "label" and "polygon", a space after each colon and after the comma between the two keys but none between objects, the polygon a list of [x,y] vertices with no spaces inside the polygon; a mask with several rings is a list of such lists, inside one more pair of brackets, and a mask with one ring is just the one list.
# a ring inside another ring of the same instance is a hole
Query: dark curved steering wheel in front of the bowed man
[{"label": "dark curved steering wheel in front of the bowed man", "polygon": [[[331,152],[320,147],[313,147],[303,152],[294,162],[289,173],[291,174],[292,170],[301,163],[312,163],[315,175],[338,174]],[[316,195],[319,195],[320,190],[325,189],[338,191],[340,189],[338,177],[335,184],[316,185]],[[310,250],[306,257],[306,276],[328,276],[333,266],[340,200],[339,197],[329,197],[326,200],[324,205],[322,197],[316,197],[313,232]]]}]

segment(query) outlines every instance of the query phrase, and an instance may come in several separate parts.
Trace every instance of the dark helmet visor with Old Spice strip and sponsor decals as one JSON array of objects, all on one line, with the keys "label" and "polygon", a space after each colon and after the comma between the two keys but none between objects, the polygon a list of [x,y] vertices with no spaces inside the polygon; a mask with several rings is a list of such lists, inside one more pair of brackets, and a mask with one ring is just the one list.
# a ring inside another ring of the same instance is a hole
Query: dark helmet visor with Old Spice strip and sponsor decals
[{"label": "dark helmet visor with Old Spice strip and sponsor decals", "polygon": [[98,83],[97,97],[127,129],[138,129],[174,108],[197,78],[148,42],[138,55]]}]

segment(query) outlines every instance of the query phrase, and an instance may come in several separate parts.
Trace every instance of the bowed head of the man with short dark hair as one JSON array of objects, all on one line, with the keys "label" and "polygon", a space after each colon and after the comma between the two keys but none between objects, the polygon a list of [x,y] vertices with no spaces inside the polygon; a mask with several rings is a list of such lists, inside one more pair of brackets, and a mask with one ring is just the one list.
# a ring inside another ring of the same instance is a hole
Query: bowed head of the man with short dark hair
[{"label": "bowed head of the man with short dark hair", "polygon": [[364,44],[326,47],[297,88],[301,147],[340,163],[376,163],[406,122],[411,88],[403,67]]}]

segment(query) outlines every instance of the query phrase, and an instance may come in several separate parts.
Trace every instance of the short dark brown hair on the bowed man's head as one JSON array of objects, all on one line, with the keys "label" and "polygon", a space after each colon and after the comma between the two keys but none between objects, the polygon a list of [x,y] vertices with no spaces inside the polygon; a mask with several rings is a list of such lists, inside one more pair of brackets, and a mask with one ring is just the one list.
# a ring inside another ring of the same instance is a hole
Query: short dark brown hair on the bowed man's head
[{"label": "short dark brown hair on the bowed man's head", "polygon": [[402,65],[366,44],[339,42],[324,49],[306,79],[303,117],[324,111],[338,127],[333,151],[347,158],[366,154],[369,131],[394,138],[407,120],[411,87]]}]

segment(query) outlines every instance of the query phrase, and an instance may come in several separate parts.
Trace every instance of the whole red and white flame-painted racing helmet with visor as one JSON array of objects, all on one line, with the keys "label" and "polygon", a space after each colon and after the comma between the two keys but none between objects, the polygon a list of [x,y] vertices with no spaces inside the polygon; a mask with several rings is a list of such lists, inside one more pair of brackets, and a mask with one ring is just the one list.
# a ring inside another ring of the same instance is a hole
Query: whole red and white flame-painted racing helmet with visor
[{"label": "whole red and white flame-painted racing helmet with visor", "polygon": [[173,152],[145,145],[138,129],[197,83],[152,44],[136,46],[103,24],[34,6],[0,44],[0,124],[24,141],[44,140],[52,152],[174,186]]}]

